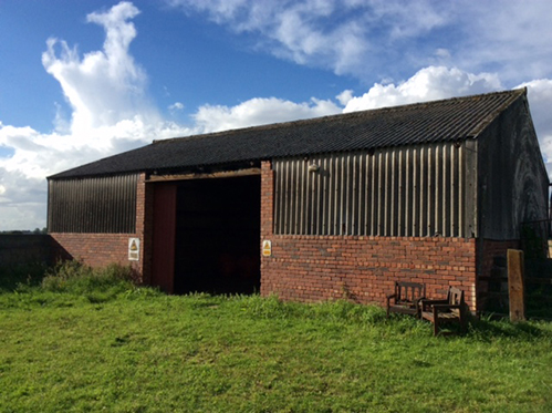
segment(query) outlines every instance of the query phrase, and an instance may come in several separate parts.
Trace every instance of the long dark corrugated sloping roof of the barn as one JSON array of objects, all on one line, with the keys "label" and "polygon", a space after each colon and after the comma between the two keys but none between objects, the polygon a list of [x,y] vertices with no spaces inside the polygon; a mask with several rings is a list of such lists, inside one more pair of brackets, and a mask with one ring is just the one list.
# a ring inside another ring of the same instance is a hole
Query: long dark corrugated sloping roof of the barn
[{"label": "long dark corrugated sloping roof of the barn", "polygon": [[157,141],[50,178],[191,169],[249,161],[477,137],[527,90]]}]

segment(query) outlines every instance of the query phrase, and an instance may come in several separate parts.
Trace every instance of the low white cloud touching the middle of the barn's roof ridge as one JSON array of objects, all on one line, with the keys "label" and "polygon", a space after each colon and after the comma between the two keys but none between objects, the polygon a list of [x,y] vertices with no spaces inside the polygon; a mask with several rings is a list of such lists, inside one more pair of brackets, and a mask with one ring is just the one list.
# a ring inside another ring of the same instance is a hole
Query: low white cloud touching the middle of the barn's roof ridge
[{"label": "low white cloud touching the middle of the barn's roof ridge", "polygon": [[277,122],[331,115],[341,112],[332,101],[312,99],[294,103],[277,97],[256,97],[236,106],[204,105],[194,115],[201,132],[217,132]]}]

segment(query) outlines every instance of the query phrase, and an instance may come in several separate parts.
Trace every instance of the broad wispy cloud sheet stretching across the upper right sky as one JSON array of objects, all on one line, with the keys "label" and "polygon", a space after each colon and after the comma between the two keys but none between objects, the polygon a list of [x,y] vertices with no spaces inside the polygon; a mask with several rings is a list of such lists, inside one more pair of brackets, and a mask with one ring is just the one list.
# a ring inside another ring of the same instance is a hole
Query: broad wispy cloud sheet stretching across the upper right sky
[{"label": "broad wispy cloud sheet stretching across the upper right sky", "polygon": [[500,72],[513,85],[552,75],[550,1],[166,0],[258,50],[363,81],[428,65]]}]

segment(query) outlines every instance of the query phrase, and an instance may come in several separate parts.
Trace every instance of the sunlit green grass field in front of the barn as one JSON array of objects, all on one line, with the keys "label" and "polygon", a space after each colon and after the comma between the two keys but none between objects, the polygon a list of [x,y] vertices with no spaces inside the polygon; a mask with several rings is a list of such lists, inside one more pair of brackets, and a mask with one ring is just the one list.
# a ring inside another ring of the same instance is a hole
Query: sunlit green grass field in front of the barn
[{"label": "sunlit green grass field in front of the barn", "polygon": [[344,301],[167,297],[71,271],[0,288],[0,412],[552,411],[551,323],[434,338]]}]

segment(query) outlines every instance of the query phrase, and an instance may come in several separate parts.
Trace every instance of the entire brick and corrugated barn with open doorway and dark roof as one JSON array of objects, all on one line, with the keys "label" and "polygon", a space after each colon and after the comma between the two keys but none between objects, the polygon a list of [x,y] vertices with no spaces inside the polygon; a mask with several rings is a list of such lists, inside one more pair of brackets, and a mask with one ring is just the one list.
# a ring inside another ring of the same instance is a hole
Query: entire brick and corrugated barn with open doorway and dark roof
[{"label": "entire brick and corrugated barn with open doorway and dark roof", "polygon": [[524,89],[154,141],[48,182],[61,257],[168,293],[383,303],[403,280],[478,310],[548,217]]}]

